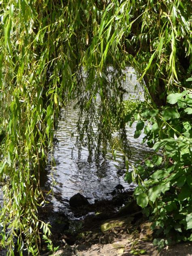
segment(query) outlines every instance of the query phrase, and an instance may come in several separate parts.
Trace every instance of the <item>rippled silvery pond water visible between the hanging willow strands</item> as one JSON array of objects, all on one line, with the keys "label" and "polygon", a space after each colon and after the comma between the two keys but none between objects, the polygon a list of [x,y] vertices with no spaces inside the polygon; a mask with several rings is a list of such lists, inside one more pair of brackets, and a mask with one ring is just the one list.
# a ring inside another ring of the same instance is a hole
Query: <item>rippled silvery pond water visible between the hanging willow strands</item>
[{"label": "rippled silvery pond water visible between the hanging willow strands", "polygon": [[[125,96],[125,99],[131,96],[132,98],[137,97],[143,100],[143,92],[139,89],[135,90],[137,81],[136,76],[132,74],[134,70],[129,68],[128,71],[129,74],[127,75],[125,84],[128,94]],[[130,74],[132,74],[131,80]],[[111,198],[110,193],[118,184],[122,184],[125,189],[132,190],[135,185],[129,185],[124,181],[126,166],[122,154],[117,152],[116,161],[114,161],[109,150],[105,159],[101,158],[99,161],[93,159],[90,162],[88,160],[88,151],[84,148],[79,158],[78,150],[75,149],[76,137],[71,138],[71,133],[73,132],[75,134],[78,118],[77,112],[73,109],[73,104],[68,105],[66,109],[62,110],[62,117],[56,134],[58,147],[54,151],[56,165],[54,167],[53,177],[56,183],[53,185],[53,196],[49,198],[54,210],[67,212],[68,200],[78,192],[90,198],[90,203],[94,203],[94,200]],[[142,159],[150,151],[146,145],[142,144],[144,134],[141,134],[139,139],[134,139],[135,129],[136,124],[133,124],[132,127],[126,127],[128,141],[132,151],[130,158],[132,164]],[[48,176],[46,176],[46,180],[44,181],[45,189],[48,189],[52,183],[51,164],[48,164],[47,172]]]}]

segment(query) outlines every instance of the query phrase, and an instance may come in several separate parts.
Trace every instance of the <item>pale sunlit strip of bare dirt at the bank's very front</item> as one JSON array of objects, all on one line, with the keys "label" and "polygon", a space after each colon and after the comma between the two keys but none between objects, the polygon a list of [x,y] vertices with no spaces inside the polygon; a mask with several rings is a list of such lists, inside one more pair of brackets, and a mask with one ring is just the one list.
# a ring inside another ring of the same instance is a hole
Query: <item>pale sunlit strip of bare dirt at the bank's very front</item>
[{"label": "pale sunlit strip of bare dirt at the bank's very front", "polygon": [[[117,237],[113,243],[109,244],[92,244],[65,246],[55,252],[54,256],[132,256],[132,241],[128,237]],[[154,245],[149,241],[138,241],[134,245],[135,249],[145,250],[146,256],[192,256],[192,244],[181,243],[174,246],[166,247],[158,252]],[[142,254],[134,254],[142,255]]]}]

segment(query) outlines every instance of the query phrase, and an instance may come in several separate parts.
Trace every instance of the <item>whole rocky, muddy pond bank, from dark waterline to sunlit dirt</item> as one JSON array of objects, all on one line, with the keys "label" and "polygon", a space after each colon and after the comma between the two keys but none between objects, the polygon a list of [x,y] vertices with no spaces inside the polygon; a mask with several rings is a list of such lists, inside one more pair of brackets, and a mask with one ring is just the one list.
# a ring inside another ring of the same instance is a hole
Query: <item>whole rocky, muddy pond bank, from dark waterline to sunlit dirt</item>
[{"label": "whole rocky, muddy pond bank, from dark waterline to sunlit dirt", "polygon": [[132,192],[125,192],[122,188],[118,190],[117,187],[115,190],[117,193],[112,200],[96,201],[94,204],[90,204],[88,198],[80,193],[72,196],[69,205],[78,220],[68,220],[63,212],[44,212],[44,216],[51,220],[51,239],[53,247],[58,247],[58,250],[46,252],[44,243],[41,255],[192,255],[191,243],[167,246],[158,252],[152,244],[154,234],[151,223],[144,218],[141,207],[132,198]]}]

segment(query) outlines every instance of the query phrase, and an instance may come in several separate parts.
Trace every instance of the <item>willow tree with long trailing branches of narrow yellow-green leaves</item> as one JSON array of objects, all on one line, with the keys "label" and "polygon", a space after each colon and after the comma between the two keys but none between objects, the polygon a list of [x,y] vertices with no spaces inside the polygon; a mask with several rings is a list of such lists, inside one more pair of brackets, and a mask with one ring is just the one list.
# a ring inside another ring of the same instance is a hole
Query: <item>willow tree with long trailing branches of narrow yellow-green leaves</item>
[{"label": "willow tree with long trailing branches of narrow yellow-green leaves", "polygon": [[128,163],[126,66],[134,67],[152,108],[166,105],[171,92],[190,87],[190,1],[0,4],[2,245],[13,254],[15,237],[21,254],[27,248],[35,255],[39,232],[49,235],[38,218],[37,209],[45,204],[39,177],[52,154],[60,109],[76,100],[77,145],[87,146],[90,156],[105,155],[118,130]]}]

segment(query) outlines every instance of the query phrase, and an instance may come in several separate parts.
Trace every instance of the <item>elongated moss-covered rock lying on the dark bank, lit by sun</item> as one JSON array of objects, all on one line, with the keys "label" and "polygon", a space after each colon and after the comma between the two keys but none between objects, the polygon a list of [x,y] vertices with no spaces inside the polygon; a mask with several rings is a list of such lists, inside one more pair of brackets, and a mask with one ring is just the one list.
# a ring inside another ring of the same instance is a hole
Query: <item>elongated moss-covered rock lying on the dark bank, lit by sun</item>
[{"label": "elongated moss-covered rock lying on the dark bank, lit by sun", "polygon": [[115,227],[125,228],[127,226],[131,226],[131,222],[133,220],[133,217],[109,219],[106,220],[103,224],[101,224],[100,228],[102,232],[111,230]]}]

